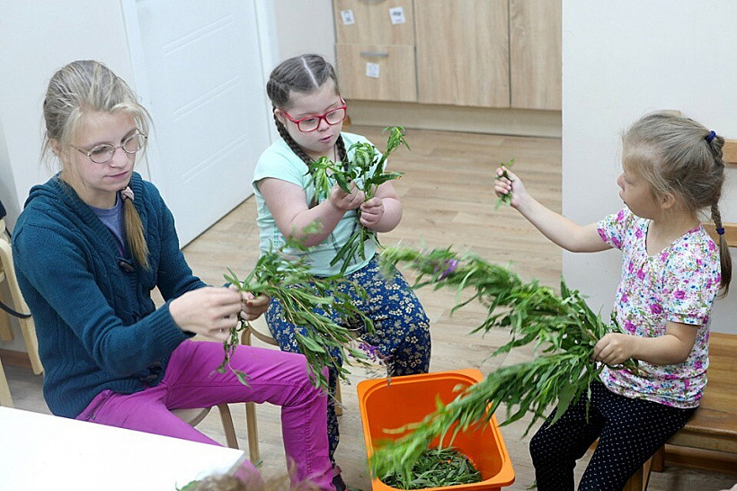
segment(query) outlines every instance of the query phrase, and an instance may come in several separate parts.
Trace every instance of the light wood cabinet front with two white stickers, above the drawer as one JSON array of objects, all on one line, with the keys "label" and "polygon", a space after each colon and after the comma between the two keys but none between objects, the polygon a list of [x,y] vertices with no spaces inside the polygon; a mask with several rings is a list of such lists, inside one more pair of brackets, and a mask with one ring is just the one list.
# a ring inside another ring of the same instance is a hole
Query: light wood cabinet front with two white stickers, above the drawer
[{"label": "light wood cabinet front with two white stickers, above the drawer", "polygon": [[338,44],[414,45],[412,0],[333,0],[333,12]]}]

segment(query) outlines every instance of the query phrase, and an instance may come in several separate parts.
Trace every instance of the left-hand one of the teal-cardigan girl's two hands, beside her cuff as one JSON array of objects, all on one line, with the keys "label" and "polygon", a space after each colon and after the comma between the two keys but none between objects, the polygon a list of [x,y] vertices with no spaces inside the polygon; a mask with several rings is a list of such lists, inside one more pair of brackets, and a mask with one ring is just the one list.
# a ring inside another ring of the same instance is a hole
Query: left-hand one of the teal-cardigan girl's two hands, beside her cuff
[{"label": "left-hand one of the teal-cardigan girl's two hands, beside her cuff", "polygon": [[182,331],[225,341],[238,323],[241,294],[228,288],[204,287],[187,291],[169,304],[169,313]]}]

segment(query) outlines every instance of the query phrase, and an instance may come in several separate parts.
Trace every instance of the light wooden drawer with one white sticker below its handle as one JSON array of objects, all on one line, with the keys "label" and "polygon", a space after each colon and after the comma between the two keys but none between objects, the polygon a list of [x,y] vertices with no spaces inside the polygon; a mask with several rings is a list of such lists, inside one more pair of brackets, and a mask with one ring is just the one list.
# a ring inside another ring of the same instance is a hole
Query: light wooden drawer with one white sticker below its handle
[{"label": "light wooden drawer with one white sticker below its handle", "polygon": [[413,46],[338,44],[335,51],[344,98],[417,102]]}]

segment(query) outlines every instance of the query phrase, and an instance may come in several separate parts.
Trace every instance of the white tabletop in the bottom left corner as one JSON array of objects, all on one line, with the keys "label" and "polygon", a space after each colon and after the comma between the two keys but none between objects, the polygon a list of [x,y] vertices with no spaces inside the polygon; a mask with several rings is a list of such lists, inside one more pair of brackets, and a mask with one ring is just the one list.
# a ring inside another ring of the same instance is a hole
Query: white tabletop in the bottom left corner
[{"label": "white tabletop in the bottom left corner", "polygon": [[0,490],[174,491],[243,451],[0,407]]}]

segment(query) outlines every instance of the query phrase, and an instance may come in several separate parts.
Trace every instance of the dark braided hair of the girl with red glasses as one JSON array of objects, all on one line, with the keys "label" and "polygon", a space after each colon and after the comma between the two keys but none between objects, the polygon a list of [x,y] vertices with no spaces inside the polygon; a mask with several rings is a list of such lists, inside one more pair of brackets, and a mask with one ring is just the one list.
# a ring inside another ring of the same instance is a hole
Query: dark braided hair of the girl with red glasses
[{"label": "dark braided hair of the girl with red glasses", "polygon": [[[333,81],[335,90],[337,91],[338,77],[335,76],[335,69],[330,63],[325,61],[320,55],[300,55],[282,61],[279,66],[271,70],[271,76],[269,76],[269,81],[266,83],[266,94],[271,99],[272,109],[286,108],[289,107],[289,96],[293,91],[308,94],[322,87],[328,80]],[[311,165],[312,159],[307,156],[305,149],[300,147],[294,138],[289,135],[289,131],[279,121],[276,113],[274,113],[274,122],[276,123],[280,137],[284,138],[289,148],[307,166]],[[339,160],[344,165],[347,165],[348,153],[346,152],[342,136],[338,136],[335,145],[338,148]]]}]

